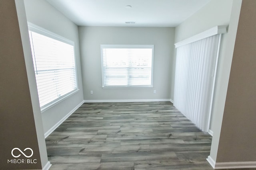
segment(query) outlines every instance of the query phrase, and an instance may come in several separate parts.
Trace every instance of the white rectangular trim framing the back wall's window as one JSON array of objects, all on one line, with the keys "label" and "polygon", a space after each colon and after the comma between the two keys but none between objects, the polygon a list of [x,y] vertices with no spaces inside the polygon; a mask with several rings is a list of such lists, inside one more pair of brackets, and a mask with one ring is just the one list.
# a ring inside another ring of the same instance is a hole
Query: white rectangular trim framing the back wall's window
[{"label": "white rectangular trim framing the back wall's window", "polygon": [[[152,65],[151,65],[151,84],[150,86],[104,86],[104,69],[103,69],[103,48],[131,48],[131,49],[152,49]],[[153,88],[153,63],[154,63],[154,45],[100,45],[100,55],[101,55],[101,70],[102,70],[102,88]]]}]

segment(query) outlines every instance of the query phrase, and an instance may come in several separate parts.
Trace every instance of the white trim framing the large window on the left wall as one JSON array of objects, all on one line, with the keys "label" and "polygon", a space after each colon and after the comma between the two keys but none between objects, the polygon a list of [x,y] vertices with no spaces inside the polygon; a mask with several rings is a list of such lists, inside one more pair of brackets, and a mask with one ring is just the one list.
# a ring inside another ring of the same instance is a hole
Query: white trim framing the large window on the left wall
[{"label": "white trim framing the large window on the left wall", "polygon": [[44,111],[50,109],[51,107],[55,106],[56,104],[62,102],[63,100],[67,99],[68,97],[72,96],[73,94],[75,94],[79,91],[78,78],[77,78],[77,69],[76,69],[77,68],[76,67],[76,50],[75,50],[76,47],[75,47],[74,41],[66,39],[65,37],[62,37],[62,36],[60,36],[56,33],[48,31],[47,29],[39,27],[38,25],[35,25],[33,23],[28,22],[28,30],[39,33],[39,34],[44,35],[46,37],[50,37],[52,39],[56,39],[56,40],[61,41],[63,43],[67,43],[67,44],[72,45],[74,47],[74,64],[75,64],[75,72],[76,72],[76,87],[77,87],[77,89],[75,89],[75,90],[61,96],[60,98],[57,98],[56,100],[53,100],[52,102],[40,107],[41,113],[43,113]]}]

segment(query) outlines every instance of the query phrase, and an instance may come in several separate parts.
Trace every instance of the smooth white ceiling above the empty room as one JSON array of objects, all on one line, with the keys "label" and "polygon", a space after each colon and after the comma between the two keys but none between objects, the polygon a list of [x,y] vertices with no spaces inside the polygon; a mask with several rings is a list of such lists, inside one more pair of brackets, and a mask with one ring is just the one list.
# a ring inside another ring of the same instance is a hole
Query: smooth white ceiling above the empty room
[{"label": "smooth white ceiling above the empty room", "polygon": [[76,25],[176,27],[210,0],[47,1]]}]

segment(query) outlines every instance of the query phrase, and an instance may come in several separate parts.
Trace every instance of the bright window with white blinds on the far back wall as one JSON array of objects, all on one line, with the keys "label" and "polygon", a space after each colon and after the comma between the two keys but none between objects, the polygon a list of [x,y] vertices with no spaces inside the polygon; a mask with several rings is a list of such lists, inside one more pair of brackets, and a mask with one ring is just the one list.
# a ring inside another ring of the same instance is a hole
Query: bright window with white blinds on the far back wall
[{"label": "bright window with white blinds on the far back wall", "polygon": [[152,88],[154,45],[101,45],[103,88]]}]

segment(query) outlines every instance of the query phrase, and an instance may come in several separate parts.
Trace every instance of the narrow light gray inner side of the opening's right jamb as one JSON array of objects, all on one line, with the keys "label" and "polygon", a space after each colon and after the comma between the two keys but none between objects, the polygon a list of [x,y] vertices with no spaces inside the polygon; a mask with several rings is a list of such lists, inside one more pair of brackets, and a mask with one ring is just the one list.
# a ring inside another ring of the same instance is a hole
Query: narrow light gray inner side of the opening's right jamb
[{"label": "narrow light gray inner side of the opening's right jamb", "polygon": [[234,44],[236,39],[236,31],[238,27],[238,19],[240,15],[242,0],[235,0],[232,4],[232,11],[230,15],[230,23],[228,34],[226,35],[226,41],[224,42],[222,48],[222,62],[220,63],[220,71],[217,73],[218,79],[216,79],[216,94],[213,103],[212,110],[212,121],[211,128],[214,132],[214,137],[212,139],[212,147],[210,156],[214,160],[217,159],[217,152],[220,140],[220,131],[222,128],[222,117],[224,113],[224,106],[226,102],[226,92],[228,88],[228,79],[230,75],[230,68],[232,63]]}]

